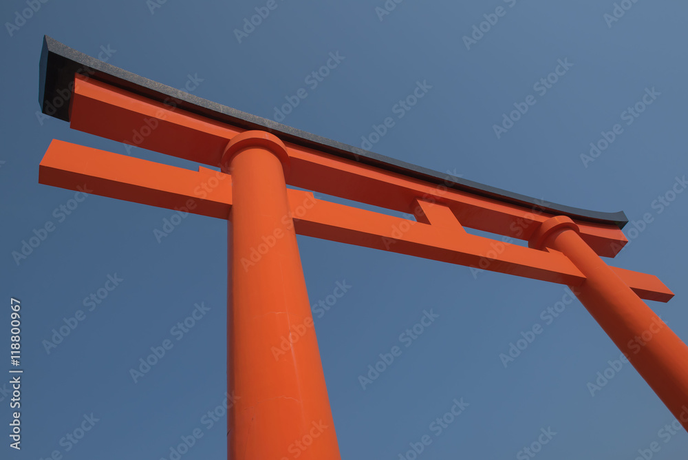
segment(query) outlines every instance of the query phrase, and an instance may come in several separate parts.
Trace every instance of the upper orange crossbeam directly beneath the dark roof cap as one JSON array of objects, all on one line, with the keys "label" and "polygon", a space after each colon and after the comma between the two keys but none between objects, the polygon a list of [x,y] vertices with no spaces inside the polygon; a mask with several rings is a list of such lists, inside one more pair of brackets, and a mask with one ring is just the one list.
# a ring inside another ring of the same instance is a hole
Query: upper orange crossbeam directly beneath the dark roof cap
[{"label": "upper orange crossbeam directly beneath the dark roof cap", "polygon": [[[244,132],[79,75],[71,104],[74,129],[214,167],[219,166],[228,141]],[[405,213],[415,213],[418,198],[435,200],[448,206],[465,227],[522,240],[552,217],[300,145],[286,143],[286,147],[290,157],[286,180],[294,187]],[[614,257],[627,242],[619,228],[576,223],[581,238],[599,255]]]}]

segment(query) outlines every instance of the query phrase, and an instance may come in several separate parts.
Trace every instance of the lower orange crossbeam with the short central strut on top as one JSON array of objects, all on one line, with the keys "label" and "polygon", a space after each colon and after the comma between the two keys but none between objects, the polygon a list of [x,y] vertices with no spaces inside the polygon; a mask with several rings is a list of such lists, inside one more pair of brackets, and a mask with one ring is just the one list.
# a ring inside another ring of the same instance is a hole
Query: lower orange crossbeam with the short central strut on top
[{"label": "lower orange crossbeam with the short central strut on top", "polygon": [[[191,171],[161,165],[61,140],[53,140],[47,149],[39,182],[65,189],[87,185],[96,195],[168,209],[186,207],[192,213],[223,219],[228,218],[233,202],[228,174],[203,167]],[[557,251],[466,233],[456,212],[444,204],[416,200],[416,222],[318,200],[308,191],[289,189],[288,200],[292,217],[297,219],[297,233],[304,236],[559,284],[579,286],[585,280]],[[643,299],[668,302],[674,295],[654,275],[616,268],[614,272]]]}]

